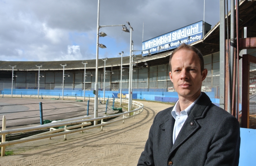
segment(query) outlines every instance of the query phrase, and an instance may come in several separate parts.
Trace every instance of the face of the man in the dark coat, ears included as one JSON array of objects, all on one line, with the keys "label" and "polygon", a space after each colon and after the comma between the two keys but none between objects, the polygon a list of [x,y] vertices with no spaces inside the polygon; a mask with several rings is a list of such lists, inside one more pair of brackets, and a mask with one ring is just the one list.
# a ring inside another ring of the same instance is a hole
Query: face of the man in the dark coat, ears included
[{"label": "face of the man in the dark coat, ears included", "polygon": [[207,69],[201,73],[198,55],[194,51],[180,49],[171,59],[169,75],[179,96],[187,98],[201,92]]}]

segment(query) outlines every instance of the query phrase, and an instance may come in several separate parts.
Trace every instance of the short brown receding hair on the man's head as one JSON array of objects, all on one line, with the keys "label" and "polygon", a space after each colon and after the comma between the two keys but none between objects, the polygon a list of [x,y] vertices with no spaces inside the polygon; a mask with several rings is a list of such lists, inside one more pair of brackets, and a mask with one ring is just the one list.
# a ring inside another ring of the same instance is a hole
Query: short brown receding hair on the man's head
[{"label": "short brown receding hair on the man's head", "polygon": [[173,55],[179,51],[180,49],[187,49],[187,50],[191,50],[191,51],[194,51],[198,57],[199,57],[199,60],[200,60],[200,68],[201,68],[201,73],[203,72],[204,70],[204,58],[203,58],[203,55],[202,53],[199,51],[199,49],[197,49],[196,47],[192,46],[192,45],[187,45],[185,43],[182,43],[179,47],[177,47],[170,55],[170,59],[169,59],[169,65],[170,65],[170,69],[171,69],[171,58],[173,57]]}]

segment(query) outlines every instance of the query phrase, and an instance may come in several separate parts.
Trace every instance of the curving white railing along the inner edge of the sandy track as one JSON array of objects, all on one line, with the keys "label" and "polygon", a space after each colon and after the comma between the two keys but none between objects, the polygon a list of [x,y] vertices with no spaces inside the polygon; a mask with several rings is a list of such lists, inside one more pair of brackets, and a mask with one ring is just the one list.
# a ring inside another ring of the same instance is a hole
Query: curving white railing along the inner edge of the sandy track
[{"label": "curving white railing along the inner edge of the sandy track", "polygon": [[[113,98],[109,98],[109,100],[113,101]],[[117,100],[118,100],[118,98],[115,98],[116,102],[117,102]],[[120,102],[120,99],[119,99],[119,102]],[[122,102],[128,103],[128,100],[122,99]],[[35,127],[17,128],[17,129],[10,129],[10,130],[5,129],[6,128],[6,118],[5,118],[5,116],[3,116],[2,130],[0,131],[0,135],[2,135],[2,142],[0,143],[0,147],[2,147],[1,156],[4,156],[5,147],[8,145],[20,144],[23,142],[41,140],[41,139],[45,139],[45,138],[50,139],[51,137],[62,136],[62,135],[64,135],[64,139],[66,140],[67,134],[71,134],[74,132],[82,132],[82,131],[89,130],[91,128],[97,128],[97,127],[101,127],[101,130],[102,130],[103,126],[112,124],[112,123],[116,123],[119,121],[123,121],[123,123],[124,123],[124,120],[131,118],[131,117],[135,117],[135,116],[139,115],[140,113],[142,113],[144,105],[137,101],[134,101],[133,105],[134,104],[137,105],[136,109],[134,109],[132,111],[127,111],[124,113],[118,113],[118,114],[114,114],[114,115],[108,115],[108,116],[97,117],[97,118],[92,118],[92,119],[89,119],[91,116],[77,117],[77,118],[67,119],[67,120],[63,120],[63,121],[54,121],[52,123],[43,124],[43,125],[39,125],[39,126],[35,126]],[[138,111],[138,112],[136,112],[136,111]],[[130,113],[134,113],[134,114],[132,116],[125,116],[125,114],[130,114]],[[115,120],[115,121],[103,122],[103,119],[107,119],[110,117],[118,117],[118,116],[123,116],[123,118]],[[98,121],[98,120],[101,120],[101,124],[83,128],[84,126],[90,125],[91,121]],[[67,125],[71,125],[71,124],[73,124],[73,125],[75,124],[75,125],[67,127]],[[54,128],[54,127],[59,127],[59,126],[65,126],[65,127],[59,128],[59,129]],[[81,127],[81,128],[79,128],[79,127]],[[40,133],[37,135],[33,135],[33,136],[29,136],[29,137],[26,137],[26,138],[23,138],[20,140],[5,141],[6,134],[21,133],[21,132],[23,133],[23,132],[35,131],[35,130],[46,129],[46,128],[49,128],[50,131]],[[79,128],[79,129],[73,129],[73,128]],[[73,129],[73,130],[71,130],[71,129]]]}]

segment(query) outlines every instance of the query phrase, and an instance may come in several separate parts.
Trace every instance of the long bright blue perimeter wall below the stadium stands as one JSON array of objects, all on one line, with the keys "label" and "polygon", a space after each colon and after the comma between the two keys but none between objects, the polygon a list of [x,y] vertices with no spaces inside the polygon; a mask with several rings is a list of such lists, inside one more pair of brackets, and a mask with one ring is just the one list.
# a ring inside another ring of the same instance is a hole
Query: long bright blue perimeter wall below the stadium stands
[{"label": "long bright blue perimeter wall below the stadium stands", "polygon": [[[103,97],[103,90],[98,91],[99,96]],[[4,89],[0,91],[1,94],[11,94],[11,89]],[[13,89],[13,94],[17,95],[37,95],[37,89]],[[105,91],[105,97],[112,97],[112,93],[120,93],[118,91]],[[144,92],[144,91],[134,91],[133,93],[137,93],[137,99],[141,100],[151,100],[151,101],[163,101],[163,102],[176,102],[178,100],[177,92]],[[128,91],[122,91],[122,94],[128,94]],[[220,99],[214,98],[214,92],[206,92],[206,94],[210,97],[211,101],[219,106]],[[47,90],[40,89],[39,95],[43,96],[62,96],[62,90]],[[83,97],[83,90],[65,90],[64,96],[77,96]],[[94,97],[92,90],[85,91],[85,97]]]}]

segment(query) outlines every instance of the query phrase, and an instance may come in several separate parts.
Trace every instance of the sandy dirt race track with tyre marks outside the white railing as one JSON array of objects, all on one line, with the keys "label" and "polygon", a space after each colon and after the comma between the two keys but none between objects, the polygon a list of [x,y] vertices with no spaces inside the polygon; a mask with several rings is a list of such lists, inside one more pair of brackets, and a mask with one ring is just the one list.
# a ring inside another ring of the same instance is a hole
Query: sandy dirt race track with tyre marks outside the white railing
[{"label": "sandy dirt race track with tyre marks outside the white railing", "polygon": [[[155,115],[171,105],[142,101],[144,111],[100,128],[6,147],[16,155],[0,158],[1,166],[137,165]],[[118,117],[121,118],[121,117]]]}]

